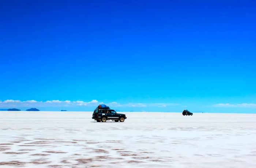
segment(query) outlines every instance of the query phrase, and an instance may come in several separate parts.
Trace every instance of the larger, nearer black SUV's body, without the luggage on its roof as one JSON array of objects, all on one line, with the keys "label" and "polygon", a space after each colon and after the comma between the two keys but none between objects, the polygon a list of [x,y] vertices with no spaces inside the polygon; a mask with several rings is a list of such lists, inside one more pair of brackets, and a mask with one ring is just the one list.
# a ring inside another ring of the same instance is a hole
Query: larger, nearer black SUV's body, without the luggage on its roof
[{"label": "larger, nearer black SUV's body, without the luggage on its roof", "polygon": [[126,116],[124,114],[118,114],[112,109],[98,109],[96,108],[93,112],[92,119],[97,122],[106,122],[107,120],[113,120],[115,122],[124,122]]}]

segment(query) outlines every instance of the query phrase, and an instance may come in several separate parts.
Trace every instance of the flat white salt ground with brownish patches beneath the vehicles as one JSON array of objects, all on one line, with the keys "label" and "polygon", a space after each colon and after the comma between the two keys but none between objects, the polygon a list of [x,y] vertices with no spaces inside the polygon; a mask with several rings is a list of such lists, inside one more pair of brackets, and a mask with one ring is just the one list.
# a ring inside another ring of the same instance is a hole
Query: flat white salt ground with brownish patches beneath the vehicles
[{"label": "flat white salt ground with brownish patches beneath the vehicles", "polygon": [[0,167],[256,167],[256,114],[123,113],[0,112]]}]

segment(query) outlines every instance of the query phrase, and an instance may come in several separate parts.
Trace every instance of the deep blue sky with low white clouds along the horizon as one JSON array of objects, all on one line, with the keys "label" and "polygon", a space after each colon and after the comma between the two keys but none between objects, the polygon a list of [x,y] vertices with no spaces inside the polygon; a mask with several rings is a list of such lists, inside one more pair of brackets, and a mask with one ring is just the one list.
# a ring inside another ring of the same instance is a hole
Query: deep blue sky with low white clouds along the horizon
[{"label": "deep blue sky with low white clouds along the horizon", "polygon": [[6,0],[0,15],[0,108],[256,113],[255,1]]}]

